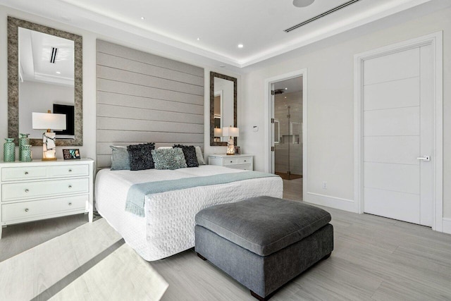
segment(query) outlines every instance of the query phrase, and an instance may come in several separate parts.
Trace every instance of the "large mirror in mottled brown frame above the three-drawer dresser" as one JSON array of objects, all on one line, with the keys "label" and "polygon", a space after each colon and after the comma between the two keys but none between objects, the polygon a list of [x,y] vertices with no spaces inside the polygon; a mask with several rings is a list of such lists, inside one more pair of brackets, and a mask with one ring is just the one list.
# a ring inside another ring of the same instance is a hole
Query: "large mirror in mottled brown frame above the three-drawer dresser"
[{"label": "large mirror in mottled brown frame above the three-drawer dresser", "polygon": [[8,16],[8,137],[42,145],[32,112],[50,110],[66,115],[56,145],[82,146],[82,101],[82,37]]}]

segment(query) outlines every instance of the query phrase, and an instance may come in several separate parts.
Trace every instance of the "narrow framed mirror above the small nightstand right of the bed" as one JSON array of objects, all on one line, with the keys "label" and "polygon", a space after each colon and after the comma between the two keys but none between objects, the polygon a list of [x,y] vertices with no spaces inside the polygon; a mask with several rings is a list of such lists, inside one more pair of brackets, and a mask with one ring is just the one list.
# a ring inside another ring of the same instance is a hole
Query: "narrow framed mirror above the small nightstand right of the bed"
[{"label": "narrow framed mirror above the small nightstand right of the bed", "polygon": [[230,125],[237,127],[237,79],[210,72],[210,146],[227,146],[222,128]]}]

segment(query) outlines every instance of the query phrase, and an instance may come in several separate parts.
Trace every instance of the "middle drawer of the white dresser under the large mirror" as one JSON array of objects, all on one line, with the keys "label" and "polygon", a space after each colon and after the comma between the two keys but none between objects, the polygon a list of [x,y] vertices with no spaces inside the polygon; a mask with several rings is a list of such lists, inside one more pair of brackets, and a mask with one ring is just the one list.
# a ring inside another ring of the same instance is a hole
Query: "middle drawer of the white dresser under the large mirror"
[{"label": "middle drawer of the white dresser under the large mirror", "polygon": [[89,191],[89,179],[46,180],[41,182],[7,183],[1,185],[1,200],[9,202],[33,197],[51,197]]}]

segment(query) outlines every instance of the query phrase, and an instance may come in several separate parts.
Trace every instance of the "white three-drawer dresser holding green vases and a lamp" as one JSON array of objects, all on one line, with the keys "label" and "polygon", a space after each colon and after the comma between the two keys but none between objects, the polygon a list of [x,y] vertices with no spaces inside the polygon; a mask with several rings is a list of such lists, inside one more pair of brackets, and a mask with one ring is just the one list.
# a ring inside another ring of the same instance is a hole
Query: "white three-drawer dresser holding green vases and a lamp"
[{"label": "white three-drawer dresser holding green vases and a lamp", "polygon": [[92,222],[92,171],[91,159],[1,162],[1,226],[84,212]]}]

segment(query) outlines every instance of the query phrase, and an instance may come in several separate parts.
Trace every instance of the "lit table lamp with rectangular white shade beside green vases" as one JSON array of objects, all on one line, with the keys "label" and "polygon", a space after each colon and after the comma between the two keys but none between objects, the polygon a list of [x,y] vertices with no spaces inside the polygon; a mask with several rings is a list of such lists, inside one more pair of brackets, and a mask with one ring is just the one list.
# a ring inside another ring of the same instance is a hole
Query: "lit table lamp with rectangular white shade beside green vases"
[{"label": "lit table lamp with rectangular white shade beside green vases", "polygon": [[34,130],[47,130],[42,134],[42,160],[56,160],[56,137],[52,130],[66,130],[66,114],[32,112]]}]

